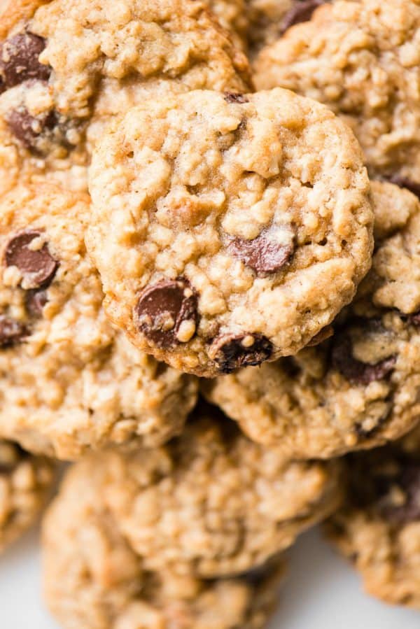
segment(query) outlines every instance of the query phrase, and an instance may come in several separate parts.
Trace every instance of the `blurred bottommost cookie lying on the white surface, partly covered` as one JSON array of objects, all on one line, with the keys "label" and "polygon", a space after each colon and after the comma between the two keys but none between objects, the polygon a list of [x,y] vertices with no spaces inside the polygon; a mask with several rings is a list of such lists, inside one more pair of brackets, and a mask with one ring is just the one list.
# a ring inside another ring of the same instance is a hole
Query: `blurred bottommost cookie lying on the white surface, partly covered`
[{"label": "blurred bottommost cookie lying on the white surface, partly covered", "polygon": [[[167,567],[150,570],[103,500],[104,472],[102,465],[92,467],[91,459],[74,465],[43,524],[43,589],[61,626],[265,626],[276,603],[281,560],[235,578],[200,579],[174,574]],[[140,482],[143,475],[142,471]]]}]

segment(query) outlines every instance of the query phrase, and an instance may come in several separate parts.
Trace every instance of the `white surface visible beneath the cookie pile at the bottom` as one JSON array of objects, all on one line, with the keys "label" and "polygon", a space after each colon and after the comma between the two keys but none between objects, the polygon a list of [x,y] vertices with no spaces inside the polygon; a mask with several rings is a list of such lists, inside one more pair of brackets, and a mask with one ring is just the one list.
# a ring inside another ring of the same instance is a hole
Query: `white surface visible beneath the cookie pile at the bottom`
[{"label": "white surface visible beneath the cookie pile at the bottom", "polygon": [[[59,629],[43,610],[39,588],[39,553],[33,532],[0,558],[1,629]],[[318,532],[311,532],[290,553],[279,610],[269,629],[419,627],[420,613],[387,607],[363,595],[357,575]]]}]

